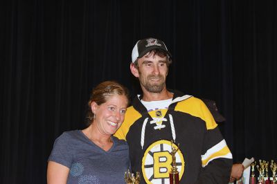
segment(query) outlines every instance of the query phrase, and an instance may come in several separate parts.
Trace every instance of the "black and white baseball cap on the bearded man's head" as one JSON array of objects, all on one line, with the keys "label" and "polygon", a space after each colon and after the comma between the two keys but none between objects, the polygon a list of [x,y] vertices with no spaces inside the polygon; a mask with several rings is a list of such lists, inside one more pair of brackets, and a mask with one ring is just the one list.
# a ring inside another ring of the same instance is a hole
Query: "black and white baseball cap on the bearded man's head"
[{"label": "black and white baseball cap on the bearded man's head", "polygon": [[168,52],[168,48],[166,48],[166,44],[164,44],[163,41],[150,37],[136,42],[132,51],[132,62],[134,63],[136,59],[143,57],[143,55],[154,49],[163,50],[168,57],[171,57],[171,54]]}]

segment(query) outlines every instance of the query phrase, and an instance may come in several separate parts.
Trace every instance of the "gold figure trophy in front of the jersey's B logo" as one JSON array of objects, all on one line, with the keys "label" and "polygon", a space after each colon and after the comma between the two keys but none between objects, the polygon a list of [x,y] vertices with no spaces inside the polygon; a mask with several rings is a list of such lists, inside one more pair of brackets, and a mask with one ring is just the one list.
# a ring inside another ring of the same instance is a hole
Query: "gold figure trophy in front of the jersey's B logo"
[{"label": "gold figure trophy in front of the jersey's B logo", "polygon": [[171,171],[169,172],[170,184],[179,184],[179,172],[178,172],[178,169],[177,169],[176,156],[175,156],[175,154],[179,150],[179,146],[180,146],[180,144],[178,144],[178,147],[175,148],[173,146],[173,141],[171,140],[171,149],[172,149],[172,151],[170,152],[170,154],[172,156],[172,168],[171,168]]}]

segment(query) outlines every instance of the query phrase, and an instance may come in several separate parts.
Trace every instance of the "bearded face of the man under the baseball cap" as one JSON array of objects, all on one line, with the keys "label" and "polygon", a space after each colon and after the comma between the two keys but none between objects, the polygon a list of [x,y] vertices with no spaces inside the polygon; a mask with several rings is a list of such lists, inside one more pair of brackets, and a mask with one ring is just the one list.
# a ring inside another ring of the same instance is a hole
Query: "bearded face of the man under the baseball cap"
[{"label": "bearded face of the man under the baseball cap", "polygon": [[159,55],[146,54],[138,59],[138,73],[141,87],[150,93],[160,93],[166,88],[166,76],[168,75],[168,66],[166,57]]}]

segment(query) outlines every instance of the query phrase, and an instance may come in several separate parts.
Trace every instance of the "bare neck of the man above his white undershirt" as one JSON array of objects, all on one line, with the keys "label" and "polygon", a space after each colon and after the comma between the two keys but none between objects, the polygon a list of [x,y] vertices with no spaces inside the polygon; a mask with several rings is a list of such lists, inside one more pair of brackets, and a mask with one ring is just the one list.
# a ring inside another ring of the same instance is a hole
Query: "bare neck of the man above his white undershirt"
[{"label": "bare neck of the man above his white undershirt", "polygon": [[143,90],[143,101],[150,102],[150,101],[159,101],[159,100],[168,100],[173,98],[173,94],[170,93],[166,88],[164,88],[160,93],[152,93],[145,89]]}]

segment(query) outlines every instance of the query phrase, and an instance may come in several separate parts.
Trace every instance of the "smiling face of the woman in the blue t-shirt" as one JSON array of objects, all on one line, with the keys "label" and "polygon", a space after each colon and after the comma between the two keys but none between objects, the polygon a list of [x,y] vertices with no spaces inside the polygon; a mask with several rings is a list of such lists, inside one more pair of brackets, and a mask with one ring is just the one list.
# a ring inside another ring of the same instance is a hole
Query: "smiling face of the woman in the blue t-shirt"
[{"label": "smiling face of the woman in the blue t-shirt", "polygon": [[91,111],[95,114],[93,123],[100,134],[111,136],[116,132],[124,121],[127,102],[125,95],[110,95],[103,104],[91,103]]}]

